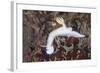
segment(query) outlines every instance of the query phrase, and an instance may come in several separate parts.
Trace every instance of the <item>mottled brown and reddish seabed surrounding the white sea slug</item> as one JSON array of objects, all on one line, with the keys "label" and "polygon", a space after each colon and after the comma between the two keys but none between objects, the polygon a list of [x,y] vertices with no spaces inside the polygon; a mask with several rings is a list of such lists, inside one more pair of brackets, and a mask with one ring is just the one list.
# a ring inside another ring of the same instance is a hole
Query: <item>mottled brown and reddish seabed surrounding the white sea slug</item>
[{"label": "mottled brown and reddish seabed surrounding the white sea slug", "polygon": [[[61,27],[55,17],[63,17],[66,26],[86,35],[85,38],[56,37],[55,53],[47,55],[49,33]],[[52,25],[56,23],[57,25]],[[23,10],[23,62],[91,59],[91,14]]]}]

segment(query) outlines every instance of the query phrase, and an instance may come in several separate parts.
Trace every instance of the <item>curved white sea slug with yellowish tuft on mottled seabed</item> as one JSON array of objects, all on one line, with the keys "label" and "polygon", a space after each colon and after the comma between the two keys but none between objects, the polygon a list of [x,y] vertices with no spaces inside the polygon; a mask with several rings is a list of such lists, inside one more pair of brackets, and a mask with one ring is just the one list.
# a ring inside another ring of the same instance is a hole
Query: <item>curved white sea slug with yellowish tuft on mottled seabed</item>
[{"label": "curved white sea slug with yellowish tuft on mottled seabed", "polygon": [[49,55],[54,53],[53,41],[55,37],[57,36],[67,36],[67,37],[76,37],[76,38],[85,37],[85,35],[80,34],[76,31],[73,31],[71,27],[67,27],[62,17],[57,17],[56,22],[61,24],[62,27],[53,30],[52,32],[50,32],[48,36],[47,45],[46,45],[46,53]]}]

